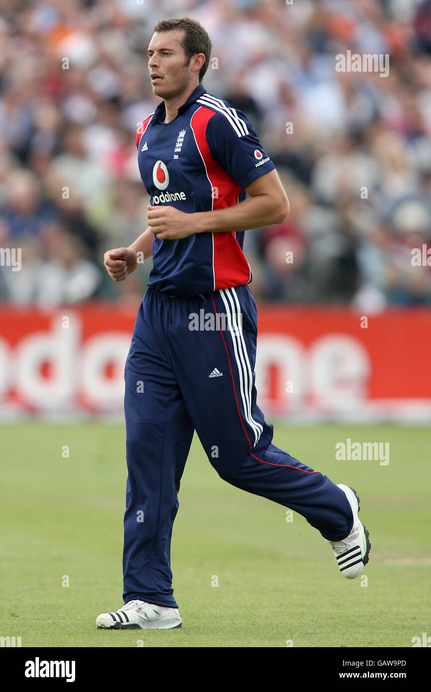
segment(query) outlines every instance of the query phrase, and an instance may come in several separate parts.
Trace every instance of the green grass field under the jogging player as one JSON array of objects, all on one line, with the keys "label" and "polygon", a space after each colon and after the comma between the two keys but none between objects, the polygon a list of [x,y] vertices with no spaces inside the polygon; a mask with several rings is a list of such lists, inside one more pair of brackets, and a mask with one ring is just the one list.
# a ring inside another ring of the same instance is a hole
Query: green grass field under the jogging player
[{"label": "green grass field under the jogging player", "polygon": [[[277,446],[357,489],[367,585],[342,578],[301,516],[286,522],[286,508],[223,482],[195,439],[172,540],[183,627],[165,631],[95,627],[122,605],[123,426],[35,421],[0,435],[0,635],[23,647],[410,647],[431,635],[428,429],[275,426]],[[388,441],[389,464],[336,461],[347,437]]]}]

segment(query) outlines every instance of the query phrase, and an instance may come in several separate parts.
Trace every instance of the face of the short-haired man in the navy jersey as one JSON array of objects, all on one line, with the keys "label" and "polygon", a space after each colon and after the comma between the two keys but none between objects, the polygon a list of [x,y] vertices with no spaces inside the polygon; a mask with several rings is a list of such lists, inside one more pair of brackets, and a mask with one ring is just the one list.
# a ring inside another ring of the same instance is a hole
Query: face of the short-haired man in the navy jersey
[{"label": "face of the short-haired man in the navy jersey", "polygon": [[153,75],[153,92],[163,99],[180,95],[196,78],[197,73],[190,70],[190,60],[181,46],[183,33],[182,30],[155,33],[149,42],[148,68]]}]

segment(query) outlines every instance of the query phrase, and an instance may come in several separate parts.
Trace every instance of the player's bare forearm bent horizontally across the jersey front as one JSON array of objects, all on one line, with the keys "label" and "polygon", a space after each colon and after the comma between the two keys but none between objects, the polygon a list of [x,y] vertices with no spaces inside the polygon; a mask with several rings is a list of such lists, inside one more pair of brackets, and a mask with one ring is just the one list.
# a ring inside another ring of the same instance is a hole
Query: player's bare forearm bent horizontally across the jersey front
[{"label": "player's bare forearm bent horizontally across the jersey front", "polygon": [[288,208],[275,205],[274,199],[269,195],[258,194],[225,209],[194,212],[194,233],[226,233],[281,224],[287,214]]}]

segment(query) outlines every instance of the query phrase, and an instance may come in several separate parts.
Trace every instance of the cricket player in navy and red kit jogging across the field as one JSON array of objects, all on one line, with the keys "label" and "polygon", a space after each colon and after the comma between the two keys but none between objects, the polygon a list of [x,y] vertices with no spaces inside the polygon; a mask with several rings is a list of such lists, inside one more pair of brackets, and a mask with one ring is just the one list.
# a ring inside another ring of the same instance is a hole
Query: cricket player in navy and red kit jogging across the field
[{"label": "cricket player in navy and red kit jogging across the field", "polygon": [[181,627],[170,544],[194,430],[221,478],[318,529],[347,579],[363,572],[371,548],[356,491],[277,448],[257,406],[244,232],[282,223],[289,204],[244,113],[201,84],[211,48],[188,17],[154,27],[149,77],[162,100],[136,136],[148,228],[104,255],[114,281],[139,258],[152,255],[154,268],[125,365],[125,605],[100,614],[98,628]]}]

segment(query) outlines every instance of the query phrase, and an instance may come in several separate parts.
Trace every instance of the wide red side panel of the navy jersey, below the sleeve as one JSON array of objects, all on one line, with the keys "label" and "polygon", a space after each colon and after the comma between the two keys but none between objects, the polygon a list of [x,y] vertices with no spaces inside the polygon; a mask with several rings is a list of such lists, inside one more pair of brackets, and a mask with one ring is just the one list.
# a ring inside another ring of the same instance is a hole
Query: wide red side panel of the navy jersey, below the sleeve
[{"label": "wide red side panel of the navy jersey, below the sleeve", "polygon": [[[206,126],[216,111],[201,107],[194,112],[190,125],[199,152],[205,163],[208,179],[212,186],[212,208],[226,209],[238,203],[241,185],[214,161],[205,136]],[[212,233],[213,238],[213,268],[214,291],[230,289],[232,286],[242,286],[250,281],[250,266],[244,256],[241,246],[235,237],[235,231]]]}]

